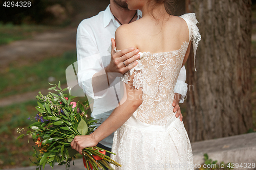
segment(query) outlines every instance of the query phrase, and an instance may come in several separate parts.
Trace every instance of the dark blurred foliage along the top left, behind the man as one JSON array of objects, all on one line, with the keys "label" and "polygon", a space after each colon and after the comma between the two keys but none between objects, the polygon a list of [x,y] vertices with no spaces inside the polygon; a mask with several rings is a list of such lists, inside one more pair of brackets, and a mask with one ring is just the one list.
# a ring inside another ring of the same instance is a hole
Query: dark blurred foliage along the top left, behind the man
[{"label": "dark blurred foliage along the top left, behind the man", "polygon": [[[109,4],[109,0],[34,0],[34,2],[39,3],[12,16],[7,16],[4,9],[0,10],[0,22],[13,25],[75,26],[81,19],[96,15],[102,7],[105,8]],[[3,3],[4,1],[1,3],[2,8]]]}]

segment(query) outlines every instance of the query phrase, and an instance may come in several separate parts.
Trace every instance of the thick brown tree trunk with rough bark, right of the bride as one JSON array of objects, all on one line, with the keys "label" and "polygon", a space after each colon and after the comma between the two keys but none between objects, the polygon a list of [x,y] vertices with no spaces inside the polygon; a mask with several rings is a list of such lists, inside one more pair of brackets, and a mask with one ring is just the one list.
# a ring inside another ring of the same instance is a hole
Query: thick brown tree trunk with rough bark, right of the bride
[{"label": "thick brown tree trunk with rough bark, right of the bride", "polygon": [[253,127],[251,110],[251,1],[186,0],[202,40],[194,70],[187,69],[187,122],[191,141],[243,134]]}]

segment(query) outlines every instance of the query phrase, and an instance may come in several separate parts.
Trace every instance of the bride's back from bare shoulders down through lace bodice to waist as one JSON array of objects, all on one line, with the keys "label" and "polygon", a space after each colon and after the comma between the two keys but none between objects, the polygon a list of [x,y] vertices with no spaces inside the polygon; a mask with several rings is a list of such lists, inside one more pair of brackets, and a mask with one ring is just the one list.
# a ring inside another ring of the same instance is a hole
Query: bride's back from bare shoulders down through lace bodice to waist
[{"label": "bride's back from bare shoulders down through lace bodice to waist", "polygon": [[[188,15],[186,15],[188,16]],[[144,52],[130,72],[121,78],[126,84],[142,87],[142,104],[137,119],[142,123],[165,125],[173,116],[174,87],[189,44],[189,29],[182,17],[170,16],[156,20],[151,16],[119,27],[117,49],[134,46]]]}]

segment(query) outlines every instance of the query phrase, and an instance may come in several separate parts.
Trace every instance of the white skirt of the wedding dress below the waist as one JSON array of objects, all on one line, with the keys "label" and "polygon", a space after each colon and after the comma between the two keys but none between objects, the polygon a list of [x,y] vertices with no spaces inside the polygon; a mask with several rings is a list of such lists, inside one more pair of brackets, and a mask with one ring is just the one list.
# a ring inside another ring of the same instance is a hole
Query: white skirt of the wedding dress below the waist
[{"label": "white skirt of the wedding dress below the waist", "polygon": [[156,169],[162,170],[194,170],[190,141],[179,118],[165,132],[122,125],[114,134],[112,152],[117,155],[111,154],[111,158],[122,165],[116,170],[155,169],[153,164],[161,165]]}]

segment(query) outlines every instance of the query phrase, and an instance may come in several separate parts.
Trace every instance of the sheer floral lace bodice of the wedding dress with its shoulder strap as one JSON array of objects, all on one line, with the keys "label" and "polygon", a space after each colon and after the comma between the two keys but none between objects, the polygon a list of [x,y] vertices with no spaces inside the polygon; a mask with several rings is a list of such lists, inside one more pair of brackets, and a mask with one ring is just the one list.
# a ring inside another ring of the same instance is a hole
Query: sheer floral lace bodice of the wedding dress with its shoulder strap
[{"label": "sheer floral lace bodice of the wedding dress with its shoulder strap", "polygon": [[[182,17],[189,29],[189,40],[193,41],[194,55],[201,39],[196,26],[198,22],[195,13],[184,14]],[[134,75],[133,85],[136,89],[142,87],[143,102],[137,109],[136,119],[142,123],[165,125],[173,112],[174,87],[187,51],[189,42],[183,42],[179,50],[151,54],[140,53],[138,64],[126,72],[121,80],[126,84]],[[131,63],[132,64],[132,63]],[[196,67],[195,67],[196,71]]]}]

